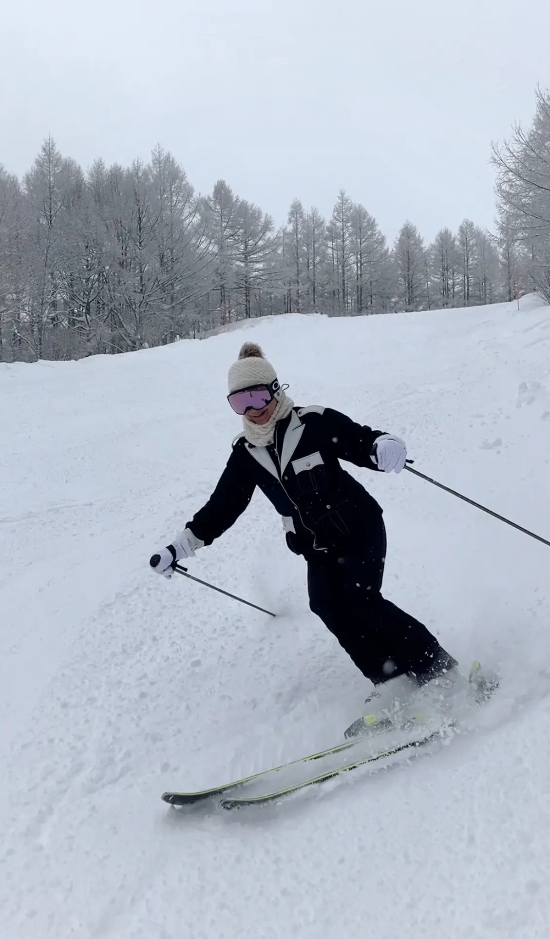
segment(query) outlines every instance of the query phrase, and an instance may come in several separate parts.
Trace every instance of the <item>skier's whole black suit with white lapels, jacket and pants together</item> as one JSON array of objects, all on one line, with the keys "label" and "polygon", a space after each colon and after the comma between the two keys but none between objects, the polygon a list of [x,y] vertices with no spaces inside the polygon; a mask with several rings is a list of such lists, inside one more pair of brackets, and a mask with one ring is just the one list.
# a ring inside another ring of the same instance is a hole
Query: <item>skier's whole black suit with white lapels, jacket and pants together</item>
[{"label": "skier's whole black suit with white lapels, jacket and pants together", "polygon": [[210,545],[246,509],[256,486],[283,516],[286,543],[308,564],[310,606],[374,684],[404,672],[420,681],[454,662],[428,629],[382,594],[386,531],[382,509],[340,465],[377,471],[382,431],[332,408],[293,408],[274,441],[255,447],[244,435],[206,505],[188,523]]}]

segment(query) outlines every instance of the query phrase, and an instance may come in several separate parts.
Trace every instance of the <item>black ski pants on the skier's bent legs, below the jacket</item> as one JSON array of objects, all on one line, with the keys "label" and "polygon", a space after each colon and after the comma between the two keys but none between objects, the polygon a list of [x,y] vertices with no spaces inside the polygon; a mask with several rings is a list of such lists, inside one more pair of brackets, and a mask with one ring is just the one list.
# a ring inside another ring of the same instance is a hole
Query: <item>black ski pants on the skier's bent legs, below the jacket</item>
[{"label": "black ski pants on the skier's bent legs, below the jacket", "polygon": [[456,665],[435,636],[380,593],[386,560],[382,516],[368,543],[343,553],[308,555],[310,607],[374,685],[412,671],[420,684]]}]

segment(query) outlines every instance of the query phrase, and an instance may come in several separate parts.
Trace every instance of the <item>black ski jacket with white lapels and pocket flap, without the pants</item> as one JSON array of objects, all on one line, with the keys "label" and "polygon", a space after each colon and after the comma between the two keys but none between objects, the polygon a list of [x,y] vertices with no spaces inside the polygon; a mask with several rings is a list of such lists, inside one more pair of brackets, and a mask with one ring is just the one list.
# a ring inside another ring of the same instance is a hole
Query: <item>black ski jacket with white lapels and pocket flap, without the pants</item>
[{"label": "black ski jacket with white lapels and pocket flap, without the pants", "polygon": [[293,408],[269,446],[254,447],[244,434],[234,440],[220,482],[187,527],[210,545],[237,521],[257,485],[283,516],[296,554],[363,546],[382,509],[339,461],[376,470],[371,453],[381,434],[332,408]]}]

